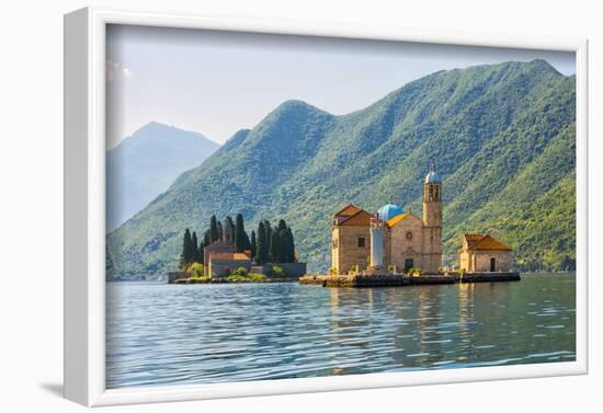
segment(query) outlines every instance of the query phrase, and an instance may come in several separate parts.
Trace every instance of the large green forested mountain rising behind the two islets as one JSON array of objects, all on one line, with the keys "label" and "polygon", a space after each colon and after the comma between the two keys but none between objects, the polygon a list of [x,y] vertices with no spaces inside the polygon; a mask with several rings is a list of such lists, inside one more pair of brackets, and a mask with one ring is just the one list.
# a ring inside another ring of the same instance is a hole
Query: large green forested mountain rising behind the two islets
[{"label": "large green forested mountain rising behind the two islets", "polygon": [[463,232],[483,231],[512,245],[522,268],[572,267],[574,122],[574,77],[543,60],[439,71],[343,116],[288,101],[113,231],[113,267],[175,267],[184,228],[242,213],[248,228],[284,218],[309,269],[326,269],[332,214],[395,202],[420,215],[431,159],[447,254]]}]

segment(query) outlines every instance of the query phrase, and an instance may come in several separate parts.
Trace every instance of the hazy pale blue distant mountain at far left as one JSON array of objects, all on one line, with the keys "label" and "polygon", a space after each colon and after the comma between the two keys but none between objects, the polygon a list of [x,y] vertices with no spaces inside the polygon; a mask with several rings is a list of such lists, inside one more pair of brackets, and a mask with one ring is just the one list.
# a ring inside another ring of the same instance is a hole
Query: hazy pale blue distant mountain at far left
[{"label": "hazy pale blue distant mountain at far left", "polygon": [[106,153],[106,228],[122,225],[197,167],[219,145],[201,134],[151,122]]}]

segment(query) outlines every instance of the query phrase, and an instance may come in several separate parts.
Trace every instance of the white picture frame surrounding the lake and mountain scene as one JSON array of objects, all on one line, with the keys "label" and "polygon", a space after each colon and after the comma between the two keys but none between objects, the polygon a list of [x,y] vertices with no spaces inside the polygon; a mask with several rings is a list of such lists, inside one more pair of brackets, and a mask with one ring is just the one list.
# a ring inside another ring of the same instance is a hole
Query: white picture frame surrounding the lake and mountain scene
[{"label": "white picture frame surrounding the lake and mountain scene", "polygon": [[[574,362],[155,388],[105,389],[105,26],[205,28],[576,53]],[[588,42],[433,32],[341,22],[182,15],[87,8],[65,15],[65,397],[88,405],[582,375],[588,371]]]}]

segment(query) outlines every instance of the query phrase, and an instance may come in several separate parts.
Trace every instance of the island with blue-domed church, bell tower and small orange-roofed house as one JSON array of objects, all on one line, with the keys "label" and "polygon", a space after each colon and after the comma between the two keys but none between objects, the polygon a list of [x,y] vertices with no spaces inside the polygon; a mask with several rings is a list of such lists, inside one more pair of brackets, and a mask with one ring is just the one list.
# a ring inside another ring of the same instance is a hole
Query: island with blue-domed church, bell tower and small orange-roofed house
[{"label": "island with blue-domed church, bell tower and small orange-roofed house", "polygon": [[442,179],[435,162],[423,182],[423,216],[387,204],[371,214],[349,204],[334,214],[329,274],[300,284],[377,287],[519,280],[512,249],[490,234],[463,237],[460,267],[442,266]]}]

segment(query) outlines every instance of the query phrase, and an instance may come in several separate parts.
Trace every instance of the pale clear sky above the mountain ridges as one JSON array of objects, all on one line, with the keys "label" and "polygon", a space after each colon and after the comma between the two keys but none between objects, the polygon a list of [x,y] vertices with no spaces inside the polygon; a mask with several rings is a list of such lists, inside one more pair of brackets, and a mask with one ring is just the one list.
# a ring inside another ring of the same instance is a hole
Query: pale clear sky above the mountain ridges
[{"label": "pale clear sky above the mountain ridges", "polygon": [[335,115],[443,69],[572,53],[333,39],[198,30],[107,28],[107,149],[156,121],[224,144],[289,99]]}]

